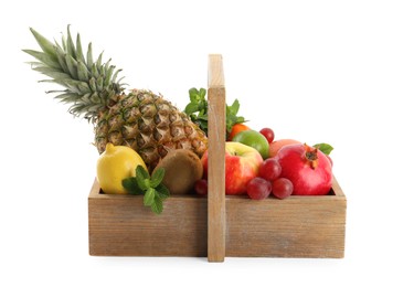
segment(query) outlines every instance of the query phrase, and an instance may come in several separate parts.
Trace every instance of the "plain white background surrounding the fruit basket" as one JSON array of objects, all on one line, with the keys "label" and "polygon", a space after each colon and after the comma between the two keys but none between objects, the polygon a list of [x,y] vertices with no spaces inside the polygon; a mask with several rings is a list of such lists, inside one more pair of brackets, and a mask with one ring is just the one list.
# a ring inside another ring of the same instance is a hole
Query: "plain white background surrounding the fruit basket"
[{"label": "plain white background surrounding the fruit basket", "polygon": [[[0,286],[413,286],[411,1],[7,1],[1,8]],[[343,259],[92,257],[93,128],[25,64],[66,24],[130,87],[180,108],[221,53],[227,103],[277,138],[335,146]]]}]

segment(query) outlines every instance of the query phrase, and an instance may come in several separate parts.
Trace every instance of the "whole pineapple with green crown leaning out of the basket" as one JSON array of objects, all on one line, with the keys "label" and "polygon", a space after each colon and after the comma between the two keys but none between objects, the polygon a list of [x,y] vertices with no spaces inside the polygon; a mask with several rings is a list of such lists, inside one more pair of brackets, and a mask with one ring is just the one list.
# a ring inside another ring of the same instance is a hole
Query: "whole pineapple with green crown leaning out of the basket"
[{"label": "whole pineapple with green crown leaning out of the basket", "polygon": [[128,146],[144,159],[149,170],[169,150],[190,149],[199,157],[206,149],[208,139],[198,125],[166,100],[150,91],[132,89],[126,93],[117,79],[121,70],[103,63],[103,53],[94,62],[92,44],[86,56],[83,53],[81,36],[74,43],[70,26],[62,44],[46,40],[30,29],[42,52],[23,50],[38,62],[31,62],[32,68],[46,76],[51,82],[64,87],[55,98],[70,104],[68,111],[93,123],[95,146],[99,153],[107,142]]}]

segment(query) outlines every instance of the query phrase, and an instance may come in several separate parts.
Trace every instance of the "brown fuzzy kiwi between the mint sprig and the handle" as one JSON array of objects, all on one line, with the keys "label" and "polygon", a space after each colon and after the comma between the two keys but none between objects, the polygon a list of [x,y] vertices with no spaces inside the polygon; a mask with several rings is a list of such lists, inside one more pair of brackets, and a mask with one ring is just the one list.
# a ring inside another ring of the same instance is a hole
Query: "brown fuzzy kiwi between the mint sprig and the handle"
[{"label": "brown fuzzy kiwi between the mint sprig and the handle", "polygon": [[166,170],[162,183],[171,194],[194,193],[194,182],[203,176],[203,166],[199,156],[188,149],[170,150],[153,172],[159,168]]}]

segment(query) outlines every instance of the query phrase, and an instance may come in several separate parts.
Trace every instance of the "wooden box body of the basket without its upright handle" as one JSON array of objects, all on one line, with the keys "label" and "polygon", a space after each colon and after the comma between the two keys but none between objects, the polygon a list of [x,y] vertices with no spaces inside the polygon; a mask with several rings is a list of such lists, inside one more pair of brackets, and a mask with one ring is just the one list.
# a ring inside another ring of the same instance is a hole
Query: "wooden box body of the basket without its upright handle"
[{"label": "wooden box body of the basket without its upright handle", "polygon": [[[89,253],[103,256],[208,256],[206,198],[173,195],[156,215],[142,196],[89,194]],[[344,253],[347,200],[333,195],[252,201],[226,196],[225,255],[328,257]]]}]

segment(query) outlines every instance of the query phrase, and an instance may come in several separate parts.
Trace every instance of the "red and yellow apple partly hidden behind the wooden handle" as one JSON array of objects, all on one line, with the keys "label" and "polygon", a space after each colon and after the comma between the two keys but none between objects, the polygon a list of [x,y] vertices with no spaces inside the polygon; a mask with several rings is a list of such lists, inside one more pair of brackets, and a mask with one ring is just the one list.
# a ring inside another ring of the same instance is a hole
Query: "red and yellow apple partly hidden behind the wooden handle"
[{"label": "red and yellow apple partly hidden behind the wooden handle", "polygon": [[[209,152],[201,158],[208,177]],[[246,193],[247,182],[257,177],[263,158],[258,151],[241,142],[225,142],[225,194]]]}]

